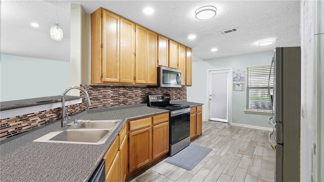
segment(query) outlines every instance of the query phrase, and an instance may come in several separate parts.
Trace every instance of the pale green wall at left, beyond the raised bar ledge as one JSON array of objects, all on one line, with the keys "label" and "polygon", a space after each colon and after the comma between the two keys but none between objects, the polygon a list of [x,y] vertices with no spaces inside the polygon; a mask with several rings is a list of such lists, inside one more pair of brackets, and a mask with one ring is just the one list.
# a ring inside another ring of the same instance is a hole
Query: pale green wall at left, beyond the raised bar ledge
[{"label": "pale green wall at left, beyond the raised bar ledge", "polygon": [[59,96],[69,86],[69,62],[0,56],[1,102]]}]

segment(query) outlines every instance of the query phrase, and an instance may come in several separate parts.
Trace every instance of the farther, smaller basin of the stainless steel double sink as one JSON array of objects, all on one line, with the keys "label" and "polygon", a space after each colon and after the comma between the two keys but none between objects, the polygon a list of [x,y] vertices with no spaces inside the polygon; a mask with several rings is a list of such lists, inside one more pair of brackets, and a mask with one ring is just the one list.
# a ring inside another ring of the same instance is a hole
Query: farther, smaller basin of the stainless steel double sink
[{"label": "farther, smaller basin of the stainless steel double sink", "polygon": [[77,120],[74,128],[112,128],[120,120]]}]

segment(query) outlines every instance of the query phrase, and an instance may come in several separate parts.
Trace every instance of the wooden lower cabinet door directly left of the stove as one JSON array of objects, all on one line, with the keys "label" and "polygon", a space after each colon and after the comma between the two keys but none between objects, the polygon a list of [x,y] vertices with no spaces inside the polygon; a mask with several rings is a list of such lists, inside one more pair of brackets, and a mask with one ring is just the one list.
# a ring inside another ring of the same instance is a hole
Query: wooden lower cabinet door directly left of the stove
[{"label": "wooden lower cabinet door directly left of the stove", "polygon": [[169,122],[153,126],[153,159],[169,152]]}]

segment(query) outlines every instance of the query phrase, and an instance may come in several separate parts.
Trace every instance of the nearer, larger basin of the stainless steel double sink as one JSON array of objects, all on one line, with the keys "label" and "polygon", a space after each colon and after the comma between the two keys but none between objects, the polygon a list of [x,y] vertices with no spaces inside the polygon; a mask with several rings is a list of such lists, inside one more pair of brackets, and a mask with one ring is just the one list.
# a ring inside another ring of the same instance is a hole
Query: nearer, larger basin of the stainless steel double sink
[{"label": "nearer, larger basin of the stainless steel double sink", "polygon": [[108,129],[68,129],[50,132],[34,142],[100,145],[107,141],[110,133]]}]

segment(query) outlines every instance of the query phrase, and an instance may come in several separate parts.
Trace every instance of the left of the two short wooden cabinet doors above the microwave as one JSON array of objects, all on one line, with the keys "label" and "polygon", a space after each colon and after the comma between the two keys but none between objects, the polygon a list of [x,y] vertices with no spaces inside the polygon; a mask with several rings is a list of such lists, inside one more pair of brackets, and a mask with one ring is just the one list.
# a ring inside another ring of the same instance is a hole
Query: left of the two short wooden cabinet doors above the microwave
[{"label": "left of the two short wooden cabinet doors above the microwave", "polygon": [[158,35],[157,39],[157,64],[169,67],[169,39],[162,35]]}]

